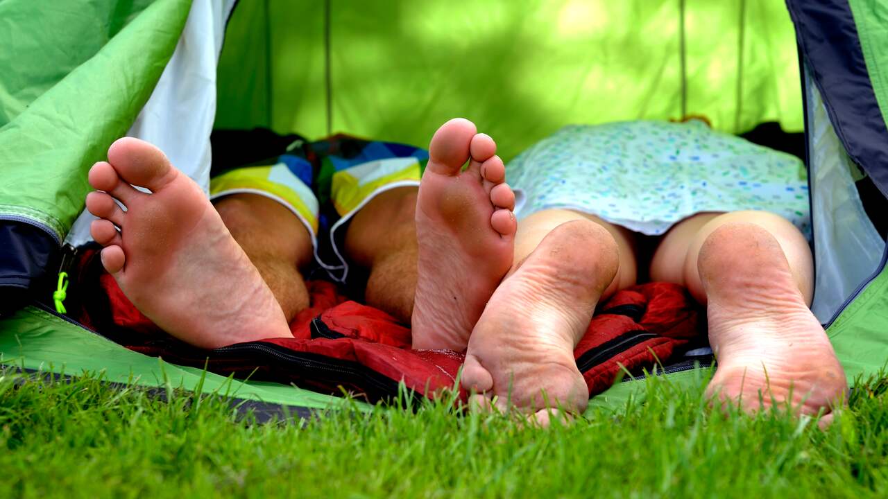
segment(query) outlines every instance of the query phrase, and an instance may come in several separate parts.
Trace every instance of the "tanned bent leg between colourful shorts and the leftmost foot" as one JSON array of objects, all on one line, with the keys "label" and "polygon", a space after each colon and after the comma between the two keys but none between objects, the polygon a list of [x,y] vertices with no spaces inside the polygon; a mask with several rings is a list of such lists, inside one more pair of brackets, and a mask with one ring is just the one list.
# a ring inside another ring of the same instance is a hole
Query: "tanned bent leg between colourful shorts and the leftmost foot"
[{"label": "tanned bent leg between colourful shorts and the leftmost foot", "polygon": [[258,194],[227,195],[215,202],[234,241],[256,265],[262,279],[292,321],[309,305],[299,267],[312,261],[312,237],[280,202]]}]

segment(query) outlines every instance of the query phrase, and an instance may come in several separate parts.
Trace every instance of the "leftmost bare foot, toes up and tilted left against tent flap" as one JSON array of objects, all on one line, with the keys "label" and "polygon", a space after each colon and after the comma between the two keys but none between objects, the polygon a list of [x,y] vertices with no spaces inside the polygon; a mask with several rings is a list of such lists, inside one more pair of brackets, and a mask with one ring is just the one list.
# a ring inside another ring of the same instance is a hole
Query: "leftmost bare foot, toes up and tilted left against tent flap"
[{"label": "leftmost bare foot, toes up and tilted left against tent flap", "polygon": [[202,348],[292,337],[271,289],[194,181],[139,139],[117,140],[108,161],[90,170],[90,185],[104,191],[86,196],[101,218],[91,233],[105,247],[102,265],[140,312]]}]

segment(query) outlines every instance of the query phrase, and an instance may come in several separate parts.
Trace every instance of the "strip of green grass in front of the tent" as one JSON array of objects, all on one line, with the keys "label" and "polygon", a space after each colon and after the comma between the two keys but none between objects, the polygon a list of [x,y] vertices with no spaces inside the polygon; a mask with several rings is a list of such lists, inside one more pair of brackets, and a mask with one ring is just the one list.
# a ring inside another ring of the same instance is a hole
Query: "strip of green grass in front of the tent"
[{"label": "strip of green grass in front of the tent", "polygon": [[722,416],[703,379],[691,391],[654,380],[644,403],[544,430],[445,403],[252,424],[220,397],[0,376],[10,497],[888,496],[885,379],[857,384],[821,432]]}]

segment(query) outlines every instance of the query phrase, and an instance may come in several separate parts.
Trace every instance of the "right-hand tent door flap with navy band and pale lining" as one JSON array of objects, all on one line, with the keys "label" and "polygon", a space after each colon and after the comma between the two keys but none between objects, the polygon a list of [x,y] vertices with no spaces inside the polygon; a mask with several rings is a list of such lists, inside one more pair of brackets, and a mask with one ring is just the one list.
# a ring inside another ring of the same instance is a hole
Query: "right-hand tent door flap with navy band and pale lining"
[{"label": "right-hand tent door flap with navy band and pale lining", "polygon": [[[844,149],[842,154],[847,154],[853,162],[853,165],[850,162],[845,163],[846,168],[860,168],[883,195],[888,195],[888,168],[885,168],[888,164],[888,126],[885,124],[883,107],[880,107],[880,104],[884,106],[888,99],[883,70],[888,62],[888,53],[884,53],[880,48],[888,44],[888,31],[878,27],[884,20],[884,7],[879,7],[877,3],[869,0],[821,3],[788,0],[787,4],[796,23],[799,51],[810,80],[816,87],[816,92],[808,89],[807,105],[809,116],[819,123],[809,123],[809,129],[812,129],[808,131],[809,138],[820,138],[820,135],[813,136],[812,131],[821,133],[825,126],[831,127],[829,133],[834,133],[841,141]],[[823,118],[818,116],[818,106],[821,101],[829,115],[830,125],[821,124]],[[813,171],[815,183],[824,171],[824,167],[828,165],[822,161],[823,158],[817,158],[821,161],[811,165],[810,156],[813,154],[816,158],[821,151],[822,149],[816,147],[813,151],[809,150],[809,168]],[[836,196],[842,195],[844,191],[841,186],[838,186],[837,190],[814,187],[812,196],[815,207],[823,204],[824,196],[835,200]],[[860,214],[862,209],[856,208],[856,203],[859,202],[859,199],[853,199],[856,193],[844,192],[851,196],[846,208],[865,218],[865,215]],[[872,286],[869,281],[876,278],[884,269],[885,252],[888,251],[882,237],[873,234],[872,230],[875,229],[870,230],[866,221],[856,221],[851,226],[844,226],[838,230],[828,228],[826,238],[819,235],[816,226],[839,227],[840,218],[852,216],[852,212],[838,210],[839,208],[840,206],[836,205],[829,212],[821,212],[821,218],[828,218],[826,221],[817,220],[818,214],[815,212],[813,221],[815,257],[820,258],[824,252],[832,250],[839,258],[852,259],[854,263],[854,265],[841,265],[839,270],[826,266],[830,263],[838,264],[836,258],[815,260],[821,273],[844,273],[841,279],[844,284],[840,284],[837,279],[829,280],[826,276],[817,276],[819,285],[815,290],[815,302],[817,302],[815,311],[821,314],[819,317],[828,325],[845,305],[850,305],[859,299],[857,295],[861,290]],[[857,234],[849,232],[853,226],[860,225],[863,229]],[[844,232],[844,236],[838,237],[841,232]],[[829,235],[834,237],[829,238]],[[854,247],[855,244],[858,245],[857,248]],[[876,252],[883,256],[877,257],[874,254]],[[872,267],[874,263],[876,268]],[[869,267],[869,271],[866,267]],[[852,275],[857,276],[857,279],[852,280]],[[821,306],[825,303],[824,298],[818,297],[818,294],[822,293],[841,296],[844,301],[839,302],[835,297],[831,298],[833,305],[829,310],[824,310]],[[827,315],[831,317],[827,319]],[[878,321],[877,315],[871,316],[870,320],[888,326],[888,323]],[[881,366],[875,366],[879,367]]]}]

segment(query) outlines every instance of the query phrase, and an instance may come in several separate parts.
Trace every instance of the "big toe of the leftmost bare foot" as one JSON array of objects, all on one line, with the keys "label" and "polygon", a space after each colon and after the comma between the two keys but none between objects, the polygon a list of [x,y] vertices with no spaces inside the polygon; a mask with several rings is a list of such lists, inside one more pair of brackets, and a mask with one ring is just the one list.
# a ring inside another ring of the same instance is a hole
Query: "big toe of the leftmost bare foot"
[{"label": "big toe of the leftmost bare foot", "polygon": [[176,172],[160,149],[132,137],[117,139],[108,148],[108,162],[123,180],[152,192],[163,188]]}]

